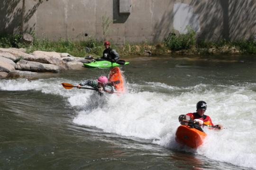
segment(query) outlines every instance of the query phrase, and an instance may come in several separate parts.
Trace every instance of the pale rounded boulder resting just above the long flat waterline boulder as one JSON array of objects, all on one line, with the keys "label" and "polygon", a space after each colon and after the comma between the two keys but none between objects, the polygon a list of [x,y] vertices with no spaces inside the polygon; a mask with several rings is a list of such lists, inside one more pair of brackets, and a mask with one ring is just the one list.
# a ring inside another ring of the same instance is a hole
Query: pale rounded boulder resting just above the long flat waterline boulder
[{"label": "pale rounded boulder resting just above the long flat waterline boulder", "polygon": [[36,61],[45,64],[56,64],[56,65],[63,65],[63,61],[61,60],[60,53],[57,52],[47,52],[47,51],[34,51],[32,53],[34,58],[25,59],[28,61]]}]

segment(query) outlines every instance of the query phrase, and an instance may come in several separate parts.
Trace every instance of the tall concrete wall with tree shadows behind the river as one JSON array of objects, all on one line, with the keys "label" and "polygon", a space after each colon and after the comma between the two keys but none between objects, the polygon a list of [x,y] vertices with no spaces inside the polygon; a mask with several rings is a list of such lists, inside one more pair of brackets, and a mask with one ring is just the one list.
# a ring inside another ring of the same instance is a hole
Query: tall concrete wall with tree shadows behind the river
[{"label": "tall concrete wall with tree shadows behind the river", "polygon": [[[91,36],[114,43],[159,42],[171,31],[185,33],[187,25],[199,38],[210,41],[256,36],[256,0],[44,0],[43,3],[25,0],[25,3],[24,29],[51,40],[88,40]],[[22,0],[0,0],[0,34],[17,33],[21,9]]]}]

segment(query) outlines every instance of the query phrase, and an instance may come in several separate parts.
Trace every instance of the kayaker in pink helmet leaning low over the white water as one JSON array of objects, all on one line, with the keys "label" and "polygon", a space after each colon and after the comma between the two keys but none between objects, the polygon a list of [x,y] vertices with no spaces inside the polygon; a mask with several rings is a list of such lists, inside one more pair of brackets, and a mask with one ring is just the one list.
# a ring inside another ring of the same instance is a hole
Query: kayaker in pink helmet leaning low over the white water
[{"label": "kayaker in pink helmet leaning low over the white water", "polygon": [[107,92],[107,93],[114,93],[114,86],[112,86],[109,83],[109,80],[106,76],[100,76],[97,80],[85,80],[82,83],[76,85],[77,88],[80,88],[84,85],[89,85],[99,91],[100,94],[102,92]]}]

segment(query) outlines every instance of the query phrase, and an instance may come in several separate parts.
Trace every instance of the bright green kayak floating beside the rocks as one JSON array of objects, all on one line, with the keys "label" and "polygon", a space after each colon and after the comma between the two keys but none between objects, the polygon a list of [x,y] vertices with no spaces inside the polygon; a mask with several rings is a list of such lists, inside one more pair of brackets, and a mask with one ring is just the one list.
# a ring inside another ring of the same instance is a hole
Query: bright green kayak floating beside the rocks
[{"label": "bright green kayak floating beside the rocks", "polygon": [[83,63],[84,67],[87,68],[109,68],[109,67],[117,67],[120,65],[127,65],[129,62],[124,60],[118,60],[117,62],[110,62],[107,60],[102,61],[92,61],[90,63]]}]

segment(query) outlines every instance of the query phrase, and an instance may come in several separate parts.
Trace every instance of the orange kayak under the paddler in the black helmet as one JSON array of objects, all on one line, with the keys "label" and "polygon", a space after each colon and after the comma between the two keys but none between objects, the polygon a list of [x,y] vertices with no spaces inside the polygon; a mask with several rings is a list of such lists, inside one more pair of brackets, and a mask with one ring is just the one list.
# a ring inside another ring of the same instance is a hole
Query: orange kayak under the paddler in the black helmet
[{"label": "orange kayak under the paddler in the black helmet", "polygon": [[189,147],[197,148],[203,143],[203,140],[206,136],[206,133],[196,128],[181,125],[177,128],[175,140],[180,144],[185,144]]}]

